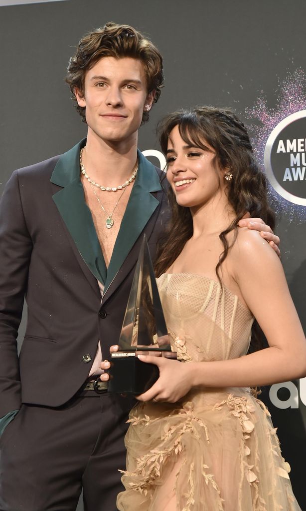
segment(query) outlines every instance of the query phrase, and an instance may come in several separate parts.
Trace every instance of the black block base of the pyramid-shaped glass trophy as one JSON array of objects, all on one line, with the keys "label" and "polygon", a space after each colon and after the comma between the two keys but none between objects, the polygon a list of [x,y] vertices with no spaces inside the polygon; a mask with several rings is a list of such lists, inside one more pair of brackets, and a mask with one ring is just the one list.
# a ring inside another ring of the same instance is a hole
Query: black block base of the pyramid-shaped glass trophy
[{"label": "black block base of the pyramid-shaped glass trophy", "polygon": [[[126,353],[126,352],[125,352]],[[144,353],[142,355],[151,355]],[[127,356],[118,357],[114,354],[111,358],[111,367],[108,371],[110,375],[108,391],[120,394],[142,394],[148,390],[159,378],[159,368],[155,364],[146,364],[138,359],[133,352]],[[168,352],[163,352],[162,356],[167,357]],[[176,358],[176,353],[169,352],[169,357]]]}]

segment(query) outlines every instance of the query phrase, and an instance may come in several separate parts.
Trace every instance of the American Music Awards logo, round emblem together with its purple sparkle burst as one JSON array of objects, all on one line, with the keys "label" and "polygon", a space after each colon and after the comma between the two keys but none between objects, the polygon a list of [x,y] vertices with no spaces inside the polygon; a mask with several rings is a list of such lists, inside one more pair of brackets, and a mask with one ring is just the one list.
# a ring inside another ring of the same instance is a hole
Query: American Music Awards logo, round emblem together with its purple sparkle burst
[{"label": "American Music Awards logo, round emblem together with its purple sparkle burst", "polygon": [[[277,214],[289,222],[306,221],[306,73],[288,70],[273,91],[275,104],[268,104],[264,91],[246,108],[254,153],[265,167],[270,200]],[[303,142],[300,140],[303,139]]]}]

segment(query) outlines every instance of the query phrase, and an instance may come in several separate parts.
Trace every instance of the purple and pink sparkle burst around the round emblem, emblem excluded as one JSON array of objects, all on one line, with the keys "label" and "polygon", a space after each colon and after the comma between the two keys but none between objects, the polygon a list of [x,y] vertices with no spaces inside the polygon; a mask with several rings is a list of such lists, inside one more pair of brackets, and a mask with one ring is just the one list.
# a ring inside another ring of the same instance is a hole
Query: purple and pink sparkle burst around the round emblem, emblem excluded
[{"label": "purple and pink sparkle burst around the round emblem, emblem excluded", "polygon": [[[250,125],[254,153],[259,164],[264,168],[264,151],[271,131],[288,115],[306,109],[306,74],[299,67],[283,81],[278,81],[275,90],[276,106],[269,108],[263,91],[257,102],[245,110],[247,117],[252,121]],[[286,215],[289,222],[296,219],[306,221],[306,207],[293,204],[278,195],[269,185],[271,205],[277,214]]]}]

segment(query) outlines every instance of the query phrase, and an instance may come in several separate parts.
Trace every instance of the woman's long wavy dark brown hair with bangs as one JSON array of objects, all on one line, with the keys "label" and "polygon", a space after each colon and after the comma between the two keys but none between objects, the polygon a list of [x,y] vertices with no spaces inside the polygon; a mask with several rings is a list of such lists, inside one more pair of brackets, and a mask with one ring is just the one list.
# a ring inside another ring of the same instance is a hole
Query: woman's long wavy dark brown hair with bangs
[{"label": "woman's long wavy dark brown hair with bangs", "polygon": [[[175,126],[179,127],[180,135],[186,144],[206,150],[208,143],[216,153],[215,161],[219,168],[233,174],[233,179],[227,181],[226,193],[228,203],[232,206],[236,217],[219,235],[223,251],[216,266],[216,275],[220,281],[220,267],[231,249],[226,236],[235,230],[233,242],[235,243],[237,224],[247,212],[251,217],[264,220],[272,229],[275,227],[275,216],[267,199],[267,179],[254,158],[244,124],[232,110],[204,106],[168,115],[159,128],[160,144],[164,154],[167,151],[169,135]],[[155,263],[157,276],[171,266],[187,240],[193,235],[189,208],[177,204],[170,187],[168,197],[172,216],[158,246]],[[259,342],[258,331],[259,327],[255,323],[252,332],[254,348],[262,345],[262,342]]]}]

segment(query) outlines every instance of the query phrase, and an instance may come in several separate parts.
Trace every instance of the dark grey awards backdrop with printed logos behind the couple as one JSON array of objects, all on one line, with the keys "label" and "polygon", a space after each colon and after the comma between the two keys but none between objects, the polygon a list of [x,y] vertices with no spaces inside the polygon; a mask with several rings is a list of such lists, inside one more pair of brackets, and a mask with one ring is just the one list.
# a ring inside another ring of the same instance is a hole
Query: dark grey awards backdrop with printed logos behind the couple
[{"label": "dark grey awards backdrop with printed logos behind the couple", "polygon": [[[0,193],[14,169],[62,153],[85,136],[64,82],[68,59],[91,29],[107,21],[130,24],[164,56],[165,88],[140,129],[140,149],[162,166],[156,125],[183,106],[237,111],[270,182],[282,262],[305,328],[305,17],[304,0],[0,1]],[[306,509],[306,379],[264,388],[261,398]]]}]

